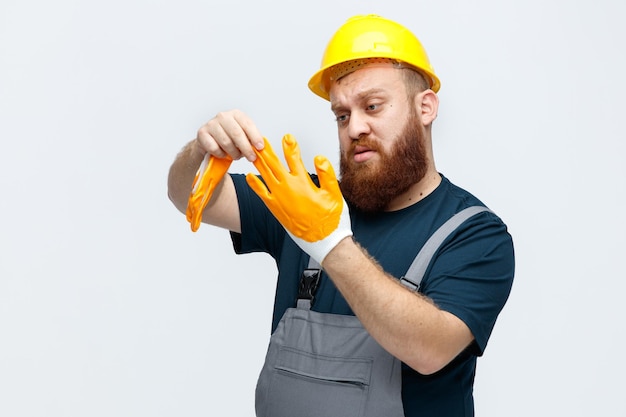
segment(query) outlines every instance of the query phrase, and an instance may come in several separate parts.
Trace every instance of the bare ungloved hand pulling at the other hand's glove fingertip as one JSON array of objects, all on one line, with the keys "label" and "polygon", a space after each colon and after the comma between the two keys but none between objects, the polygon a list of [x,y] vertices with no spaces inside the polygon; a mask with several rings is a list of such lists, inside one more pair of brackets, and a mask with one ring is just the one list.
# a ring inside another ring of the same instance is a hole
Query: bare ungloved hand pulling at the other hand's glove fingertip
[{"label": "bare ungloved hand pulling at the other hand's glove fingertip", "polygon": [[236,160],[256,159],[256,150],[263,149],[263,136],[252,120],[240,110],[218,113],[198,130],[197,141],[209,154]]}]

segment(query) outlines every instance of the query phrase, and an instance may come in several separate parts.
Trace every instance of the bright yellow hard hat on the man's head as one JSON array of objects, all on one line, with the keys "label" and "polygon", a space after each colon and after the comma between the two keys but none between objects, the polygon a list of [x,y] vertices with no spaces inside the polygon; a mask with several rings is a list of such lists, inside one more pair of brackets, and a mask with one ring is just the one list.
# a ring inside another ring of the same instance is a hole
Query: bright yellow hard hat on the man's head
[{"label": "bright yellow hard hat on the man's head", "polygon": [[424,76],[434,92],[439,91],[439,78],[415,35],[399,23],[373,14],[353,16],[335,32],[326,46],[319,71],[309,80],[309,88],[329,100],[332,80],[372,60],[413,68]]}]

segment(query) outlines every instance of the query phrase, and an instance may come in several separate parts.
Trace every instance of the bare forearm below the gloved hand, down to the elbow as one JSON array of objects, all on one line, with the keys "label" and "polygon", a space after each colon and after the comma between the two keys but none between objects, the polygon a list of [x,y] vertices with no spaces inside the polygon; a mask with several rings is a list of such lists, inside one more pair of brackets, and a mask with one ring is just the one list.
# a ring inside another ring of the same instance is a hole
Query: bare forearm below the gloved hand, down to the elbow
[{"label": "bare forearm below the gloved hand, down to the elbow", "polygon": [[370,335],[418,372],[436,372],[471,343],[461,320],[406,289],[352,239],[341,241],[323,266]]}]

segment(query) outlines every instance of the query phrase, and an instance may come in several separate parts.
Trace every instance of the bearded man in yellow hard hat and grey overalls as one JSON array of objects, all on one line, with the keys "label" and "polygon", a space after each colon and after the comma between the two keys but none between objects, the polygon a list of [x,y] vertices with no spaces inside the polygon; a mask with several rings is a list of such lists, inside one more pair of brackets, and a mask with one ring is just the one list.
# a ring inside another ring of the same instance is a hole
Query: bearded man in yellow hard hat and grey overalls
[{"label": "bearded man in yellow hard hat and grey overalls", "polygon": [[[398,23],[355,16],[309,87],[336,116],[339,183],[323,157],[309,177],[289,135],[283,167],[238,110],[202,126],[169,175],[170,199],[185,212],[207,154],[245,157],[261,173],[263,182],[217,175],[201,213],[232,232],[237,253],[264,251],[278,265],[257,415],[473,415],[476,358],[512,286],[513,244],[495,214],[478,212],[437,245],[419,291],[400,281],[440,226],[483,206],[435,168],[439,79],[428,57]],[[316,270],[310,259],[323,268],[319,281],[304,280]]]}]

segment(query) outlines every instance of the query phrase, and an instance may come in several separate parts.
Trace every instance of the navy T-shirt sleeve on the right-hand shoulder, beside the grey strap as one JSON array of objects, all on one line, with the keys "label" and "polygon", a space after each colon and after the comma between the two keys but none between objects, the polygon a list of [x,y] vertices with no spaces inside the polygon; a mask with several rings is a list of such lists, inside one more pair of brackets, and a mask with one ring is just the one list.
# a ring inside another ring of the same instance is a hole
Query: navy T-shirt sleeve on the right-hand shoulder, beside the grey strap
[{"label": "navy T-shirt sleeve on the right-hand shoulder, beside the grey strap", "polygon": [[469,327],[480,356],[508,299],[514,269],[506,225],[493,213],[483,213],[444,241],[426,271],[422,292]]}]

